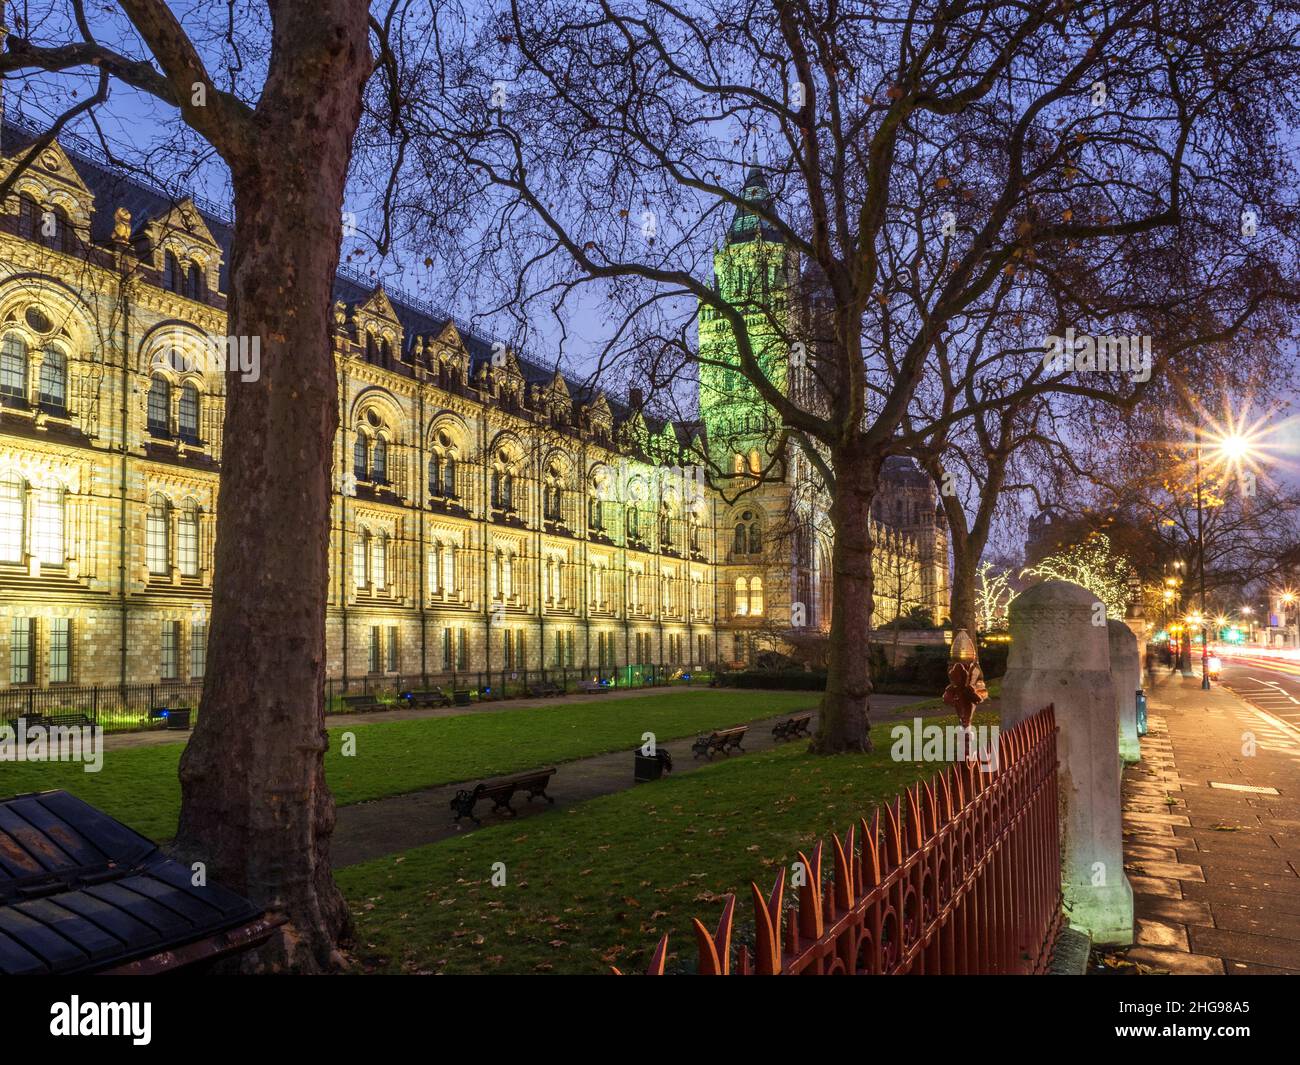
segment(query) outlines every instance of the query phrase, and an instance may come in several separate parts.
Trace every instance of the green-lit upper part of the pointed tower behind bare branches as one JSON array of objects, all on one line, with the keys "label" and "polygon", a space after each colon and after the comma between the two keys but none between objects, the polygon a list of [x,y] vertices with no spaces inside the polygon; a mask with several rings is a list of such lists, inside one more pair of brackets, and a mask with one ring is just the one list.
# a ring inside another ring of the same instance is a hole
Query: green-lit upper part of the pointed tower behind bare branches
[{"label": "green-lit upper part of the pointed tower behind bare branches", "polygon": [[[757,166],[745,178],[746,203],[771,215],[772,194]],[[790,342],[788,316],[794,309],[798,254],[755,211],[737,208],[722,247],[714,252],[714,286],[745,315],[746,333],[767,378],[786,388]],[[699,308],[699,354],[723,365],[699,367],[699,412],[707,430],[710,460],[727,473],[767,466],[767,445],[779,424],[772,408],[740,372],[731,322],[712,308]]]}]

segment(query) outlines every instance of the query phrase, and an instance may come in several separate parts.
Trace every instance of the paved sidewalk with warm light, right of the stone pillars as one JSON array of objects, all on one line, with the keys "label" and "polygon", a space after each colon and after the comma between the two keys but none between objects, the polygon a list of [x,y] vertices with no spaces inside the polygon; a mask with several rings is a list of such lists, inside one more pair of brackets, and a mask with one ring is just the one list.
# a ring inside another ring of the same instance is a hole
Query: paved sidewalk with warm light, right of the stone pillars
[{"label": "paved sidewalk with warm light, right of the stone pillars", "polygon": [[1300,974],[1300,732],[1217,684],[1157,674],[1143,761],[1123,776],[1124,957],[1174,974]]}]

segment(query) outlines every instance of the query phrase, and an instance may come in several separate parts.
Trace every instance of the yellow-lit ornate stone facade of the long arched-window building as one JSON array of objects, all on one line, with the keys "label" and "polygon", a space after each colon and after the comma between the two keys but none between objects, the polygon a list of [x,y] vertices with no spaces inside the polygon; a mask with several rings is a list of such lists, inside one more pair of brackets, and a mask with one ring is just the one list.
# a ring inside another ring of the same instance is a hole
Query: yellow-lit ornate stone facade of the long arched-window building
[{"label": "yellow-lit ornate stone facade of the long arched-window building", "polygon": [[[6,173],[30,134],[3,134]],[[202,676],[240,388],[205,358],[229,239],[84,147],[42,152],[3,204],[0,689]],[[698,427],[382,289],[341,276],[337,299],[330,676],[736,661],[780,646],[801,596],[828,623],[824,544],[775,534],[784,482],[729,503],[696,473]]]}]

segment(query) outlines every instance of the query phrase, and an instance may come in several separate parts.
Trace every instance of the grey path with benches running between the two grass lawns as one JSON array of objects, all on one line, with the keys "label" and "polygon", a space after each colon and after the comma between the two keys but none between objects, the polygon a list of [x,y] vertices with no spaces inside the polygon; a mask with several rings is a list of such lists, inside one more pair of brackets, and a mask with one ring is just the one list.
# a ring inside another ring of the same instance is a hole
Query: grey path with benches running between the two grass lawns
[{"label": "grey path with benches running between the two grass lawns", "polygon": [[[762,700],[762,692],[754,692],[755,702]],[[595,696],[604,700],[606,696]],[[932,717],[952,713],[946,706],[926,710],[909,710],[900,714],[901,707],[920,701],[920,696],[872,696],[871,711],[875,722],[889,720],[890,718]],[[763,718],[749,723],[749,733],[745,736],[745,752],[757,753],[770,750],[779,745],[772,739],[772,726],[785,720],[790,714],[779,714],[772,718]],[[386,718],[384,718],[386,719]],[[812,715],[812,727],[816,727],[816,714]],[[710,765],[705,758],[693,758],[690,744],[696,733],[672,739],[659,737],[659,746],[672,754],[672,775],[694,772]],[[806,744],[806,740],[793,740],[792,743]],[[745,754],[731,756],[744,758]],[[715,756],[714,763],[725,761],[727,756]],[[608,754],[595,754],[589,758],[578,758],[572,762],[558,762],[559,772],[551,779],[549,791],[555,798],[550,805],[537,800],[529,802],[524,796],[516,796],[515,809],[519,810],[519,821],[536,817],[545,811],[563,810],[589,798],[602,795],[614,795],[636,787],[632,780],[632,750],[615,750]],[[538,766],[542,769],[542,766]],[[385,854],[395,854],[410,850],[413,847],[422,847],[465,832],[477,831],[472,821],[452,823],[451,800],[460,788],[473,787],[477,780],[458,782],[421,792],[376,798],[370,802],[355,802],[348,806],[339,806],[334,836],[330,843],[330,856],[335,869],[356,865]],[[645,787],[654,787],[653,784]],[[482,827],[512,821],[503,815],[489,813],[490,802],[480,804],[476,809],[482,821]]]}]

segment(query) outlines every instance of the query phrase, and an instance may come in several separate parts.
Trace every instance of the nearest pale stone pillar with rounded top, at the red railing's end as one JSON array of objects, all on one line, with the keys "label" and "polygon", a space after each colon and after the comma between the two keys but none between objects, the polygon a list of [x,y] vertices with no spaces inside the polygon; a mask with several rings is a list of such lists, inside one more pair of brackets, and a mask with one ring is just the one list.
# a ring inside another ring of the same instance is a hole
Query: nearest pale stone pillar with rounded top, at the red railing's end
[{"label": "nearest pale stone pillar with rounded top, at the red railing's end", "polygon": [[1061,889],[1070,925],[1093,943],[1134,935],[1119,805],[1119,718],[1105,607],[1076,584],[1044,581],[1010,605],[1001,727],[1056,706]]}]

